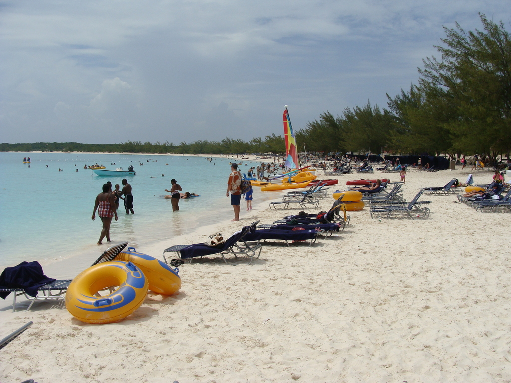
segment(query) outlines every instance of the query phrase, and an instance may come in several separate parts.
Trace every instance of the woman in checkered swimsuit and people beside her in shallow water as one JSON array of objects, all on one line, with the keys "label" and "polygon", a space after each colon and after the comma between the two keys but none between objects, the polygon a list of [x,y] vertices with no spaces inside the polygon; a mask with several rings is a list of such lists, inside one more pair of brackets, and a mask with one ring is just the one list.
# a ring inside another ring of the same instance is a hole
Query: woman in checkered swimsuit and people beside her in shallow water
[{"label": "woman in checkered swimsuit and people beside her in shallow water", "polygon": [[[98,194],[96,202],[94,204],[94,211],[92,212],[92,221],[96,220],[96,211],[98,216],[103,223],[103,229],[99,237],[98,245],[103,245],[103,239],[106,237],[106,241],[110,242],[110,225],[112,218],[115,221],[118,220],[117,210],[119,209],[119,200],[124,200],[124,208],[126,214],[134,214],[133,211],[133,195],[131,194],[131,185],[128,183],[126,178],[122,180],[123,188],[120,189],[120,185],[115,184],[115,190],[112,190],[112,183],[108,181],[103,184],[103,192]],[[123,198],[124,196],[124,198]]]}]

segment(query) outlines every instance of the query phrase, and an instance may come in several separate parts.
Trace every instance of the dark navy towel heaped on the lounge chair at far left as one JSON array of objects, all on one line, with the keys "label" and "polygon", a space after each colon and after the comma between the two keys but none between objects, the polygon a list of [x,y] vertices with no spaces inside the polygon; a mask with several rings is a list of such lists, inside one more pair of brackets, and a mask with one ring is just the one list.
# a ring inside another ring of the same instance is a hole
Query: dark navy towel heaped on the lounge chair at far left
[{"label": "dark navy towel heaped on the lounge chair at far left", "polygon": [[[38,261],[23,261],[14,267],[8,267],[0,275],[0,288],[23,289],[31,297],[37,296],[37,290],[45,284],[55,282],[55,278],[44,275]],[[0,298],[7,298],[10,291],[0,292]]]}]

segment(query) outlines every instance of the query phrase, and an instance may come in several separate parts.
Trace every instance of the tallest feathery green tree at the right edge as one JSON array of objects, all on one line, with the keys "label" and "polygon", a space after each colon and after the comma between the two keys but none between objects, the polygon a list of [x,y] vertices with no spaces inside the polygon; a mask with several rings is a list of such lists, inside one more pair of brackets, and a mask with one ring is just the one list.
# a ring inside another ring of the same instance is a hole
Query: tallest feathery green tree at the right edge
[{"label": "tallest feathery green tree at the right edge", "polygon": [[427,58],[419,86],[451,109],[444,126],[452,147],[463,152],[511,149],[511,35],[502,22],[479,15],[483,31],[444,28],[442,60]]}]

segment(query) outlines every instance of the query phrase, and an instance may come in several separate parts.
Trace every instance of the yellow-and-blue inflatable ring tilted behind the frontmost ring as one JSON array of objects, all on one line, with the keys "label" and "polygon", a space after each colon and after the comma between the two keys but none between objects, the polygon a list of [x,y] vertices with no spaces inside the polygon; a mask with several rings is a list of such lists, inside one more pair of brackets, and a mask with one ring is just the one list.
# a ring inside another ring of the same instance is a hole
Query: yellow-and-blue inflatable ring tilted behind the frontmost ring
[{"label": "yellow-and-blue inflatable ring tilted behind the frontmost ring", "polygon": [[132,262],[138,267],[149,282],[149,290],[156,294],[172,295],[181,288],[181,278],[179,269],[172,269],[164,262],[153,258],[147,254],[137,253],[135,248],[129,247],[128,251],[123,251],[115,260]]}]

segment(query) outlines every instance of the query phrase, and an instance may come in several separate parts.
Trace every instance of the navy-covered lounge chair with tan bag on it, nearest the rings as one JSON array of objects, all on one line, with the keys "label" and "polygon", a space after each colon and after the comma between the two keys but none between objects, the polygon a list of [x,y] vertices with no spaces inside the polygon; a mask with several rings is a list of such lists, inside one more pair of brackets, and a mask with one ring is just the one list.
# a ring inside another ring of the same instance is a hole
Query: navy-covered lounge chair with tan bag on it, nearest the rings
[{"label": "navy-covered lounge chair with tan bag on it, nearest the rings", "polygon": [[[227,265],[232,265],[227,262],[225,256],[227,254],[234,255],[235,258],[238,258],[238,255],[244,255],[248,257],[250,260],[248,264],[252,262],[252,259],[259,258],[261,255],[262,246],[254,246],[251,247],[244,243],[244,245],[238,245],[238,242],[243,243],[243,237],[250,231],[249,226],[243,227],[240,231],[237,231],[233,235],[231,235],[227,240],[218,246],[207,246],[204,244],[195,244],[195,245],[175,245],[171,246],[163,251],[163,258],[166,264],[169,264],[165,253],[176,253],[176,255],[180,259],[190,259],[190,263],[192,263],[192,259],[195,257],[203,257],[207,255],[220,254],[222,259]],[[257,254],[257,256],[255,256]]]}]

